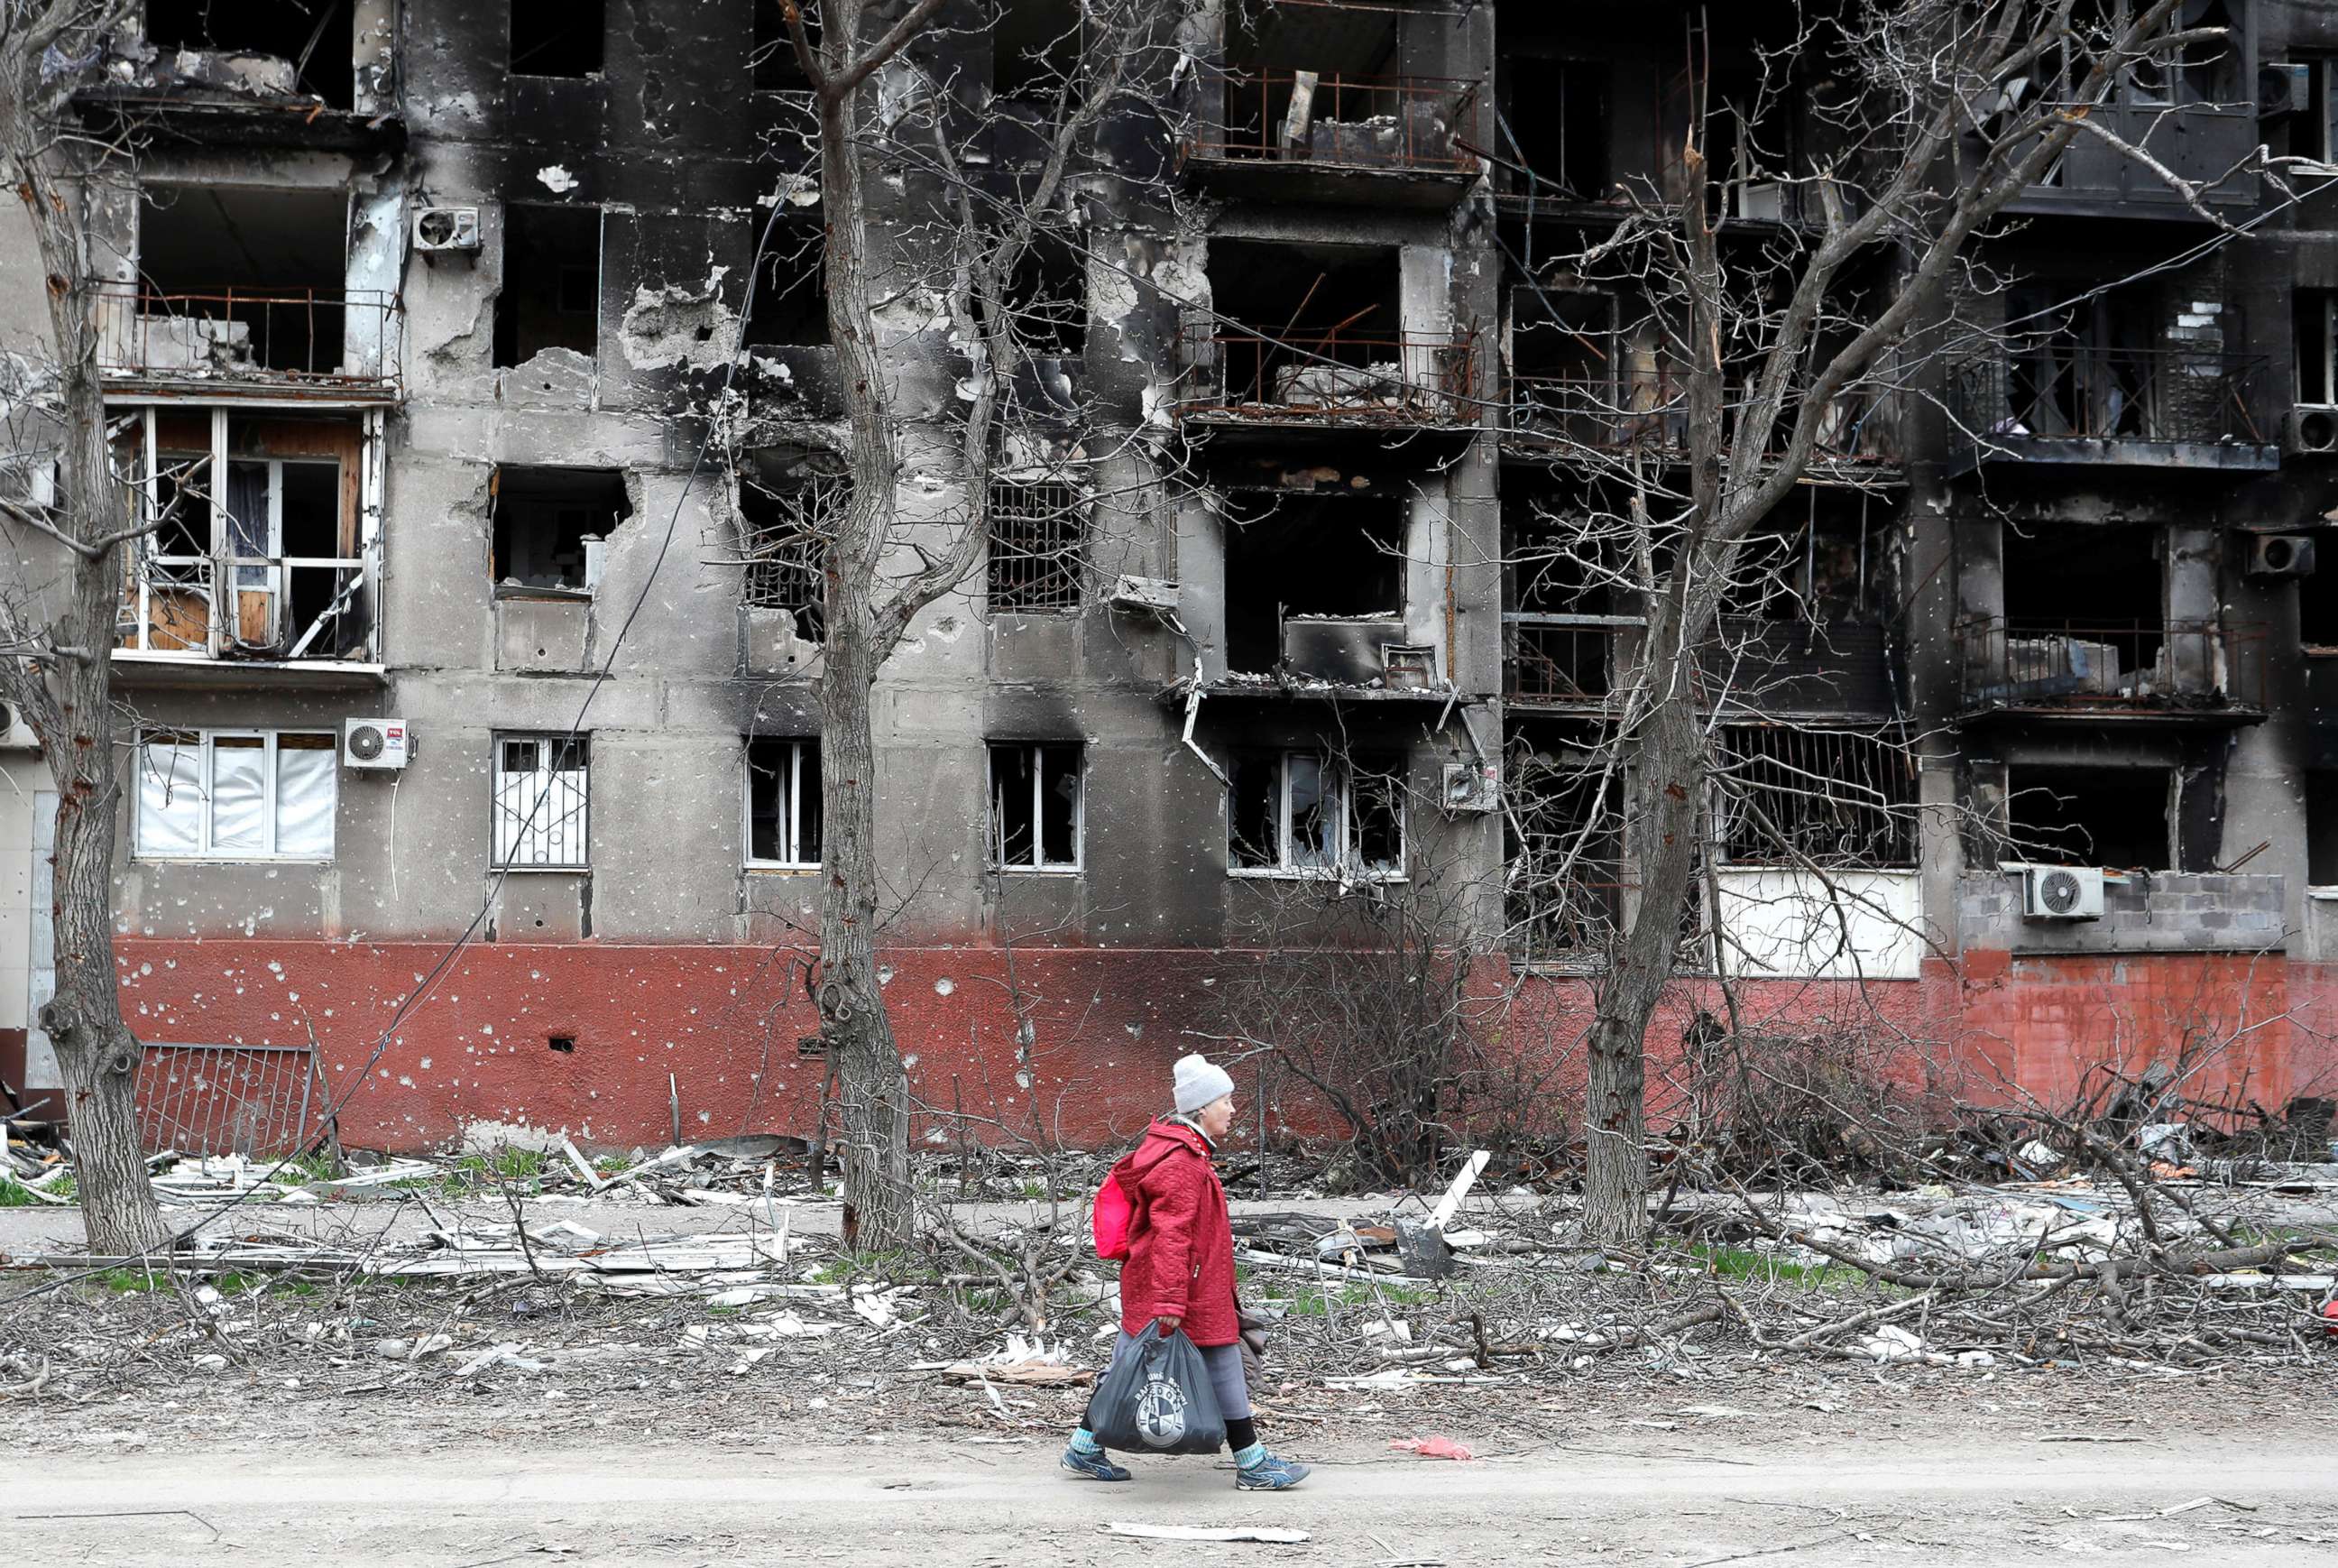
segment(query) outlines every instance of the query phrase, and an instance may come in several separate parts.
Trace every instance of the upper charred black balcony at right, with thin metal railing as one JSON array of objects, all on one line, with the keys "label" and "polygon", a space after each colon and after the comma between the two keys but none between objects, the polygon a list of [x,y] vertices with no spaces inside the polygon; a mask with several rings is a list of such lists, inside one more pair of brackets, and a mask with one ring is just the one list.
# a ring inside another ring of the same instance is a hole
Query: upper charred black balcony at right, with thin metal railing
[{"label": "upper charred black balcony at right, with thin metal railing", "polygon": [[2055,463],[2270,472],[2266,360],[2048,341],[1948,367],[1950,472]]}]

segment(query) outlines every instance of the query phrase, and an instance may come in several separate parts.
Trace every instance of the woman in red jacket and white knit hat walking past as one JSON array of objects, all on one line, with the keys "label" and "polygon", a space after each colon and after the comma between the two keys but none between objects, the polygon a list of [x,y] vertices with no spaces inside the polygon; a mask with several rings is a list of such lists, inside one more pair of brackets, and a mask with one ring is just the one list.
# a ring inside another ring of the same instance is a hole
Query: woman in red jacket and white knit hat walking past
[{"label": "woman in red jacket and white knit hat walking past", "polygon": [[[1307,1479],[1307,1465],[1267,1453],[1251,1421],[1251,1386],[1241,1369],[1241,1318],[1234,1302],[1234,1227],[1211,1152],[1234,1126],[1234,1080],[1202,1056],[1176,1063],[1176,1115],[1146,1129],[1143,1143],[1120,1166],[1134,1215],[1129,1257],[1120,1267],[1120,1339],[1113,1360],[1139,1353],[1141,1334],[1181,1327],[1202,1351],[1225,1442],[1234,1451],[1237,1491],[1281,1491]],[[1104,1386],[1104,1379],[1097,1379]],[[1094,1421],[1080,1421],[1064,1449],[1064,1468],[1097,1482],[1125,1482],[1097,1442]]]}]

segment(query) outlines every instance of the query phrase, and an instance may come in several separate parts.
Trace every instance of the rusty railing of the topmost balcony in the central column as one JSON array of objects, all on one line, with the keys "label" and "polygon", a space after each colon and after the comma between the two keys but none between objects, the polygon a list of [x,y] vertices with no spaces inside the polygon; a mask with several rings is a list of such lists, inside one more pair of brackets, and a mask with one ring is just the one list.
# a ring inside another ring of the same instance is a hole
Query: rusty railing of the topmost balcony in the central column
[{"label": "rusty railing of the topmost balcony in the central column", "polygon": [[1192,159],[1398,168],[1471,175],[1454,145],[1478,84],[1440,77],[1340,77],[1270,70],[1225,79],[1225,124],[1185,143]]}]

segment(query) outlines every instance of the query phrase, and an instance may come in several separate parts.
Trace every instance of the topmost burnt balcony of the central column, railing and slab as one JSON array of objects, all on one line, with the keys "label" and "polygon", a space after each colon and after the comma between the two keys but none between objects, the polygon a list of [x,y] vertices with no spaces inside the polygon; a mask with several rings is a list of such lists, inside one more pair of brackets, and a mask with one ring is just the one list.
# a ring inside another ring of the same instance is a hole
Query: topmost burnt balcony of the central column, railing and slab
[{"label": "topmost burnt balcony of the central column, railing and slab", "polygon": [[1478,178],[1461,147],[1478,82],[1270,70],[1225,79],[1225,124],[1183,147],[1204,187],[1246,201],[1450,208]]}]

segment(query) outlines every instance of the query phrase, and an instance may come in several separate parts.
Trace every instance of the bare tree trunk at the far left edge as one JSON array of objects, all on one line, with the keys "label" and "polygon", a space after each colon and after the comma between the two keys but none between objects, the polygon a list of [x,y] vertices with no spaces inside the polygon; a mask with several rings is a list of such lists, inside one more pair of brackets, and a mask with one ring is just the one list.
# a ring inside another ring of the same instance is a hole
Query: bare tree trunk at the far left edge
[{"label": "bare tree trunk at the far left edge", "polygon": [[[56,780],[56,995],[40,1026],[56,1047],[72,1119],[89,1248],[140,1253],[161,1234],[138,1147],[138,1040],[115,988],[117,715],[108,694],[122,610],[122,547],[143,533],[117,472],[98,379],[98,297],[87,185],[108,157],[79,136],[70,93],[133,0],[0,0],[0,159],[33,231],[49,304],[49,355],[14,358],[0,404],[19,453],[54,453],[54,498],[0,498],[19,558],[54,582],[0,598],[0,694],[40,734]],[[147,523],[150,526],[150,523]]]}]

